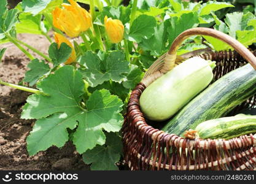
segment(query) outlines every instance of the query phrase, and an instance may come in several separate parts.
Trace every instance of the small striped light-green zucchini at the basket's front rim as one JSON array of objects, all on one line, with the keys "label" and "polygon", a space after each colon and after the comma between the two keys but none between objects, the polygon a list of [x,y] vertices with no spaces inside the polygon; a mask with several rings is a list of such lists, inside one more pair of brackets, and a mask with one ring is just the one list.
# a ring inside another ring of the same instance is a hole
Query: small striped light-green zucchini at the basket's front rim
[{"label": "small striped light-green zucchini at the basket's front rim", "polygon": [[195,131],[202,139],[231,139],[256,132],[256,116],[236,115],[204,121]]}]

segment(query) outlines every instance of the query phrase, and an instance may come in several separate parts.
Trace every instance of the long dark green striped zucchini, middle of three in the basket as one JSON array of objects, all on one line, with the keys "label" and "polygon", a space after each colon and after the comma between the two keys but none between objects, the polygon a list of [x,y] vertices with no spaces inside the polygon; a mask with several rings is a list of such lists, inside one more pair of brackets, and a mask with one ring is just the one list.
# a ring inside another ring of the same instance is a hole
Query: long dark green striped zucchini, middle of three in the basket
[{"label": "long dark green striped zucchini, middle of three in the basket", "polygon": [[169,134],[182,134],[206,120],[225,117],[236,105],[256,93],[256,71],[246,64],[215,81],[190,101],[162,128]]}]

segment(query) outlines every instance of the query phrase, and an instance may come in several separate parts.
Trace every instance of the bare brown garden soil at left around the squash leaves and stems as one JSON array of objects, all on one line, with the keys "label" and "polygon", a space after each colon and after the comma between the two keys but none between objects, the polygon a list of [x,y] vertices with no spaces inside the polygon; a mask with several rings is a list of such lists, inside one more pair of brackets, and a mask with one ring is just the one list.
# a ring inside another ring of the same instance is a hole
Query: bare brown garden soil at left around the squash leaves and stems
[{"label": "bare brown garden soil at left around the squash leaves and stems", "polygon": [[[50,43],[42,36],[21,34],[21,40],[47,53]],[[0,79],[19,83],[23,79],[29,59],[13,44],[7,48],[0,63]],[[34,55],[36,56],[36,55]],[[40,58],[40,57],[38,57]],[[51,147],[35,156],[26,151],[26,136],[34,120],[20,119],[21,107],[29,93],[0,85],[0,170],[88,170],[71,142],[63,148]]]}]

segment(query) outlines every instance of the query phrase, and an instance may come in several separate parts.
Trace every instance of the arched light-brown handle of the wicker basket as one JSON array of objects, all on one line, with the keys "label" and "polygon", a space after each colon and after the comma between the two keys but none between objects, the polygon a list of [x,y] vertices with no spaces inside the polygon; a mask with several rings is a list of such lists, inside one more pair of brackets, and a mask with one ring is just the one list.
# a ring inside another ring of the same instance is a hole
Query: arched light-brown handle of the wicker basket
[{"label": "arched light-brown handle of the wicker basket", "polygon": [[236,50],[236,52],[238,52],[244,59],[246,59],[252,65],[252,67],[254,67],[254,69],[256,70],[255,56],[246,47],[244,47],[244,45],[242,45],[238,40],[234,39],[231,36],[228,36],[225,33],[217,31],[215,29],[192,28],[192,29],[187,29],[186,31],[180,33],[179,36],[176,37],[173,44],[169,48],[168,53],[165,56],[165,61],[160,72],[165,74],[166,72],[173,69],[179,46],[182,44],[182,42],[185,39],[194,35],[212,36],[216,39],[222,40],[223,42],[233,47]]}]

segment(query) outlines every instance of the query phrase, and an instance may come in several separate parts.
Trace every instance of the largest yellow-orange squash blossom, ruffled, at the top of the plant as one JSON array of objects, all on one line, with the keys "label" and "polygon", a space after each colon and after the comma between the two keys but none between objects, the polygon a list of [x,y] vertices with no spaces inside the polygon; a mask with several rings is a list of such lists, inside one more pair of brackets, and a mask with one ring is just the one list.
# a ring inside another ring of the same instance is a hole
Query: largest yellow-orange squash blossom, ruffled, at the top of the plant
[{"label": "largest yellow-orange squash blossom, ruffled, at the top of the plant", "polygon": [[53,26],[66,33],[69,37],[77,37],[91,27],[91,15],[75,1],[63,3],[63,9],[56,7],[52,11]]}]

